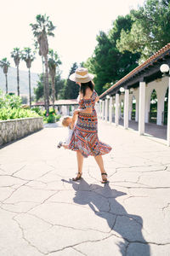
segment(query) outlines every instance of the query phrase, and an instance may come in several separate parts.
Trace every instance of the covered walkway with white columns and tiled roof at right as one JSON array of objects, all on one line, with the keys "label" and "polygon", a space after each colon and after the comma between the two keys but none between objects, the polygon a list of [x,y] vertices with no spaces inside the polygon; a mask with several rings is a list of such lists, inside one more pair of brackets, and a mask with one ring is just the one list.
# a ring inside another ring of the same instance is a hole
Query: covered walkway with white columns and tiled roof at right
[{"label": "covered walkway with white columns and tiled roof at right", "polygon": [[[139,122],[139,135],[149,133],[152,137],[165,139],[167,125],[167,146],[170,147],[170,44],[165,45],[139,67],[111,85],[99,96],[97,110],[101,119],[136,130],[135,119]],[[156,123],[155,131],[154,125]],[[160,127],[158,127],[160,125]],[[131,127],[130,127],[131,128]]]}]

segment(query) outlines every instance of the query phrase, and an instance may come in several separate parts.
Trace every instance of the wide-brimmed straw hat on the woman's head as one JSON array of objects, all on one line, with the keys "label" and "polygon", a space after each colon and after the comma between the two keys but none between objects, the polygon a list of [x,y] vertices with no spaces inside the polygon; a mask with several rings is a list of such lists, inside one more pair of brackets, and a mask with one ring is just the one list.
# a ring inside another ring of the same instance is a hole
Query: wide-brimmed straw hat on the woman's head
[{"label": "wide-brimmed straw hat on the woman's head", "polygon": [[79,67],[75,73],[70,75],[69,79],[77,83],[88,83],[94,79],[94,75],[92,73],[88,73],[87,68]]}]

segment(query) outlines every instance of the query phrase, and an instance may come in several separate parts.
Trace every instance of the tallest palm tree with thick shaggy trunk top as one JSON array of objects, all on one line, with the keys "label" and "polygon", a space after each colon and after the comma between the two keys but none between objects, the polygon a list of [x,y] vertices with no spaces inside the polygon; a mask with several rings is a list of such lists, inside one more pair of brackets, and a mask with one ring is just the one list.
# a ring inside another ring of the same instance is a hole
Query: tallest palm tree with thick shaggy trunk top
[{"label": "tallest palm tree with thick shaggy trunk top", "polygon": [[46,105],[46,110],[49,110],[49,85],[48,85],[48,36],[54,37],[54,28],[52,21],[46,15],[37,15],[37,23],[30,24],[33,35],[37,38],[37,43],[39,44],[39,55],[43,56],[45,64],[45,91],[44,103]]}]

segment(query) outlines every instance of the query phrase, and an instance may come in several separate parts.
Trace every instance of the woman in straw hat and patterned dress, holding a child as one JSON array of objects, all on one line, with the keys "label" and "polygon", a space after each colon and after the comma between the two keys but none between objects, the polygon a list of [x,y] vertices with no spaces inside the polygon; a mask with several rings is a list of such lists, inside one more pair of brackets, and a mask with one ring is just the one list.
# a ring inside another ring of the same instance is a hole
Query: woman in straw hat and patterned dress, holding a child
[{"label": "woman in straw hat and patterned dress, holding a child", "polygon": [[111,147],[105,143],[99,142],[98,138],[98,119],[95,111],[95,102],[99,101],[99,96],[94,90],[94,75],[88,73],[87,68],[77,68],[76,73],[71,74],[71,81],[80,85],[79,108],[74,111],[78,114],[77,125],[71,137],[71,143],[68,148],[77,151],[77,181],[82,177],[83,157],[93,155],[99,165],[102,181],[107,182],[107,173],[105,172],[102,154],[111,151]]}]

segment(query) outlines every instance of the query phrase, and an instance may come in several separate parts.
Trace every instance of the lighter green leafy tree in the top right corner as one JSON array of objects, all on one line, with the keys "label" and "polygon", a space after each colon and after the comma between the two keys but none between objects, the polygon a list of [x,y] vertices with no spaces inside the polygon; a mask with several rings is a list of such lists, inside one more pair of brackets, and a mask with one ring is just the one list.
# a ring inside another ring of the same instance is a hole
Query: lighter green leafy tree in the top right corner
[{"label": "lighter green leafy tree in the top right corner", "polygon": [[141,63],[170,41],[170,1],[147,0],[130,15],[133,26],[127,31],[122,28],[117,48],[122,52],[139,52]]}]

